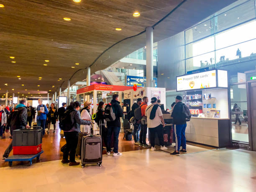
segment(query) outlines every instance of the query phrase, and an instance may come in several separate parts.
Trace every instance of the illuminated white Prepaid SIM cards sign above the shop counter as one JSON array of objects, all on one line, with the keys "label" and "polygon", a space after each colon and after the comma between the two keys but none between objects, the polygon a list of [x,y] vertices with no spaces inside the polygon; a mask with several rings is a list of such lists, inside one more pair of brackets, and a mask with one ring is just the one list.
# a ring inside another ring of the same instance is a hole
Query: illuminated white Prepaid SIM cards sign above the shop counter
[{"label": "illuminated white Prepaid SIM cards sign above the shop counter", "polygon": [[177,91],[190,91],[216,87],[228,87],[228,73],[223,70],[210,70],[176,77]]}]

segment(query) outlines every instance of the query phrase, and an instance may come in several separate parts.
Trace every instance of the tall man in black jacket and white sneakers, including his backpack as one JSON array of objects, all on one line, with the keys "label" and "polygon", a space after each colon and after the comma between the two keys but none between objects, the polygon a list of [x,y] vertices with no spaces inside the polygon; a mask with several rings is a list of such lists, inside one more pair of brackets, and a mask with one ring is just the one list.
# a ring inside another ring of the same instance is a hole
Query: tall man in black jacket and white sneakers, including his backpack
[{"label": "tall man in black jacket and white sneakers, including his backpack", "polygon": [[122,153],[118,152],[118,137],[121,129],[120,118],[123,117],[123,110],[120,106],[118,94],[114,94],[111,102],[105,107],[104,117],[107,121],[108,133],[107,133],[107,155],[110,155],[110,143],[111,136],[114,133],[114,154],[113,156],[121,156]]}]

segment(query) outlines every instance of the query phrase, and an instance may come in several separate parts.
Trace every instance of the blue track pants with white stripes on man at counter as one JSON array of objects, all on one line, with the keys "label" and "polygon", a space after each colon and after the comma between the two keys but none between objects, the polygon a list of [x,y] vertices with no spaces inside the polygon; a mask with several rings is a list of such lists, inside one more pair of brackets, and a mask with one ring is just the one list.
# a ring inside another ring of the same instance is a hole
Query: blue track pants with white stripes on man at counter
[{"label": "blue track pants with white stripes on man at counter", "polygon": [[185,130],[186,130],[187,124],[183,125],[174,125],[174,134],[176,137],[176,151],[179,151],[180,146],[182,146],[182,149],[186,150],[186,136],[185,136]]}]

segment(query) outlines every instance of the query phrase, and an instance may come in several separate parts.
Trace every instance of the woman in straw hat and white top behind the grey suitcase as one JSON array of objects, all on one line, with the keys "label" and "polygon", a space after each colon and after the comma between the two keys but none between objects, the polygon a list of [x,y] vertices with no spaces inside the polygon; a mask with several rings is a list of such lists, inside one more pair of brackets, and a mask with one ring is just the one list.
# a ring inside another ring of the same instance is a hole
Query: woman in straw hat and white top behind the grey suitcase
[{"label": "woman in straw hat and white top behind the grey suitcase", "polygon": [[[92,121],[92,115],[90,113],[90,109],[92,107],[92,103],[89,101],[84,102],[84,108],[81,110],[81,119]],[[91,133],[91,125],[81,125],[81,132]]]}]

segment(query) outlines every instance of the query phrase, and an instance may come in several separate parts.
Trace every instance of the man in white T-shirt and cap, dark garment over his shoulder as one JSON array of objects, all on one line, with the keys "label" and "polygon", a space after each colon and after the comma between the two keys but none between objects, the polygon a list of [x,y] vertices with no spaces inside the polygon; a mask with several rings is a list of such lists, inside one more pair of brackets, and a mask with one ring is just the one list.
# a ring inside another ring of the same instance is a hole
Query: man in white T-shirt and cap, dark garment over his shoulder
[{"label": "man in white T-shirt and cap, dark garment over his shoulder", "polygon": [[[151,151],[155,151],[155,136],[159,138],[159,144],[161,150],[166,150],[164,146],[164,117],[160,106],[156,103],[156,97],[151,98],[151,105],[146,108],[146,117],[148,123],[148,130],[150,132]],[[154,114],[154,115],[153,115]],[[153,118],[154,116],[154,118]]]}]

